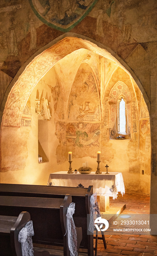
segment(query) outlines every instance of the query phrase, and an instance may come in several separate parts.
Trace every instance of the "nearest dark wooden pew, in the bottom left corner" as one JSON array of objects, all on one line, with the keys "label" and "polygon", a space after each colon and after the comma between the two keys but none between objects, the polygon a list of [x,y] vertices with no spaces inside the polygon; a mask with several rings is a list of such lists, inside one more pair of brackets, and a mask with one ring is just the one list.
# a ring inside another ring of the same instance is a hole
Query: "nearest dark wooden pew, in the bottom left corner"
[{"label": "nearest dark wooden pew, in the bottom left corner", "polygon": [[[29,212],[21,212],[18,217],[0,215],[0,255],[22,256],[21,243],[18,241],[20,230],[30,221]],[[37,252],[34,256],[50,256],[49,252]]]}]

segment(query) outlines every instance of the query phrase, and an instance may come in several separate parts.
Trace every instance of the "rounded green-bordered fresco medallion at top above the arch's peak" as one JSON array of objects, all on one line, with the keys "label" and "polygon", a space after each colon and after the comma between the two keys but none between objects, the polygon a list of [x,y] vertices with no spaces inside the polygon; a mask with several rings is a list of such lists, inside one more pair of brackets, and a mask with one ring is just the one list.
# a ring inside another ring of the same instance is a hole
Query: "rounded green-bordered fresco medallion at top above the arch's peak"
[{"label": "rounded green-bordered fresco medallion at top above the arch's peak", "polygon": [[29,0],[36,16],[54,29],[68,32],[92,10],[98,0]]}]

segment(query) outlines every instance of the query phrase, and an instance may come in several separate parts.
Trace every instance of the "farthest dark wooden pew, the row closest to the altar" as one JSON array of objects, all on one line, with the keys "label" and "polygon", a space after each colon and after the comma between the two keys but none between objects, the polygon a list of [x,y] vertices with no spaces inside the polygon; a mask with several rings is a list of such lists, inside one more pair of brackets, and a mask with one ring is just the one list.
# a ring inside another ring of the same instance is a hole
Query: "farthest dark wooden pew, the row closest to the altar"
[{"label": "farthest dark wooden pew, the row closest to the altar", "polygon": [[0,196],[29,196],[46,198],[64,198],[66,194],[72,196],[75,203],[73,215],[75,225],[82,227],[81,249],[88,250],[88,256],[93,256],[93,234],[87,235],[87,214],[90,214],[90,196],[93,195],[93,186],[89,188],[59,187],[25,184],[0,184]]}]

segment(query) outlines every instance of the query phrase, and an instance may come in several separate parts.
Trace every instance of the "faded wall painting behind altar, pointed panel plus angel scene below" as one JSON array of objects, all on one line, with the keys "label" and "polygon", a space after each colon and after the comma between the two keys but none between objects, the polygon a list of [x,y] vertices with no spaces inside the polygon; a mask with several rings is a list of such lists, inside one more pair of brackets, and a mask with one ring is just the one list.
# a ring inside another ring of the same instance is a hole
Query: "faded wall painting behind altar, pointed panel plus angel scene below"
[{"label": "faded wall painting behind altar, pointed panel plus angel scene below", "polygon": [[[59,100],[59,97],[57,99]],[[59,139],[56,155],[59,163],[66,161],[68,151],[72,151],[75,158],[82,158],[89,154],[91,157],[95,157],[95,152],[100,147],[99,101],[97,79],[94,78],[89,64],[83,63],[76,72],[71,85],[67,105],[67,121],[63,119],[63,121],[57,121],[55,117],[55,135]],[[55,111],[63,110],[62,106],[59,104],[57,106]]]}]

